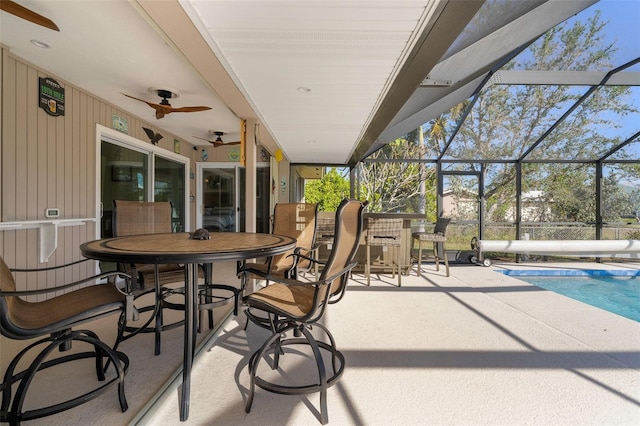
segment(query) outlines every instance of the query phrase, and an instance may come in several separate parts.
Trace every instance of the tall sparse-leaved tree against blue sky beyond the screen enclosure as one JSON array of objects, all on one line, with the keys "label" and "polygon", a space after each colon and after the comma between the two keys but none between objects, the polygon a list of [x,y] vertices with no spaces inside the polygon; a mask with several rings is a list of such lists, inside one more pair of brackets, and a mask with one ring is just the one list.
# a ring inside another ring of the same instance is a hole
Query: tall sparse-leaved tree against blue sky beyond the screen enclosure
[{"label": "tall sparse-leaved tree against blue sky beyond the screen enclosure", "polygon": [[[526,54],[519,55],[505,66],[513,70],[609,70],[614,44],[606,44],[603,29],[606,22],[595,13],[587,22],[559,25],[546,32],[533,43]],[[585,92],[584,88],[551,85],[492,85],[485,89],[447,152],[457,159],[518,159],[538,141],[557,119]],[[593,160],[620,141],[608,136],[606,129],[620,126],[618,117],[637,113],[627,102],[628,87],[604,86],[596,90],[585,102],[552,131],[526,159]],[[443,123],[446,121],[446,124]],[[429,123],[431,134],[445,134],[455,125],[454,115],[445,114]],[[443,139],[433,137],[431,150],[439,152]],[[632,152],[632,151],[628,151]],[[470,161],[468,171],[479,171],[485,182],[485,205],[492,219],[508,209],[500,208],[513,203],[516,168],[513,164],[480,163]],[[545,197],[556,206],[560,198],[562,208],[556,210],[558,219],[591,218],[593,205],[584,202],[584,196],[593,193],[593,175],[585,172],[589,167],[527,167],[523,171],[523,191],[546,187]],[[573,178],[575,180],[572,180]],[[561,185],[568,185],[562,187]],[[591,209],[590,211],[588,209]]]}]

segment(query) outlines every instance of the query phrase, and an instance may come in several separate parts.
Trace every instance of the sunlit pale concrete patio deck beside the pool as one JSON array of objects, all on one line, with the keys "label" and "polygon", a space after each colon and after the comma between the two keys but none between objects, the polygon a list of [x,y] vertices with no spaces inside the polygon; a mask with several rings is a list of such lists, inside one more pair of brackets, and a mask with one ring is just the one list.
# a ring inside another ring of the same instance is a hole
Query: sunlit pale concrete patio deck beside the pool
[{"label": "sunlit pale concrete patio deck beside the pool", "polygon": [[[354,275],[325,316],[347,364],[329,389],[329,423],[639,424],[640,323],[495,272],[503,267],[640,264],[452,265],[449,278],[430,264],[401,288],[390,276],[367,287]],[[139,424],[320,424],[317,394],[258,389],[244,412],[248,357],[266,332],[243,325],[231,318],[197,361],[187,422],[174,389]]]}]

